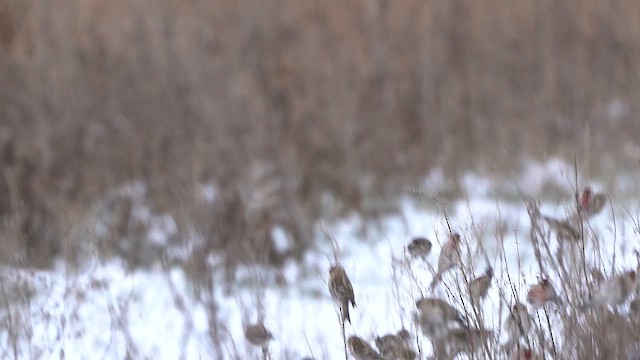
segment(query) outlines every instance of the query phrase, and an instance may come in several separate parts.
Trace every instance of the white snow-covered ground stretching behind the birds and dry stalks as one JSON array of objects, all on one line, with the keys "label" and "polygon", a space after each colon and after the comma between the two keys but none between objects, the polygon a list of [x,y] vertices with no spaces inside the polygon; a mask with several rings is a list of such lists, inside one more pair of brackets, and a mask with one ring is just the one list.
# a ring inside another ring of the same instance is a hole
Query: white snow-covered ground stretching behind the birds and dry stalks
[{"label": "white snow-covered ground stretching behind the birds and dry stalks", "polygon": [[[411,194],[401,200],[398,214],[371,225],[375,230],[368,231],[367,238],[360,231],[357,216],[319,224],[317,248],[302,263],[288,263],[277,273],[256,267],[240,269],[238,285],[231,293],[224,291],[223,274],[214,274],[209,303],[201,294],[196,296],[179,267],[167,268],[160,262],[144,271],[127,270],[118,260],[88,261],[81,269],[61,264],[46,272],[7,268],[2,272],[3,291],[23,294],[28,300],[11,301],[1,309],[5,324],[0,332],[1,355],[24,359],[217,359],[222,351],[224,358],[235,354],[259,358],[259,350],[244,339],[243,324],[256,321],[256,309],[261,308],[274,335],[270,344],[273,358],[344,358],[339,317],[326,286],[334,257],[328,236],[339,245],[339,260],[351,278],[358,305],[346,333],[372,341],[376,335],[401,327],[419,333],[411,321],[412,311],[417,298],[434,294],[429,290],[432,267],[440,243],[449,233],[448,224],[469,245],[465,246],[465,259],[474,269],[469,276],[481,274],[489,264],[495,269],[483,310],[487,326],[497,331],[507,311],[501,299],[512,300],[507,272],[519,287],[519,300],[524,301],[525,289],[537,281],[539,268],[524,201],[498,194],[496,184],[502,184],[506,193],[537,196],[551,182],[570,193],[569,171],[570,167],[555,161],[534,164],[523,170],[520,178],[503,184],[469,174],[463,180],[465,199],[441,204],[428,194]],[[423,188],[430,191],[443,184],[435,173]],[[624,181],[619,184],[628,193],[629,185]],[[571,199],[562,200],[544,201],[541,211],[562,217]],[[636,267],[632,250],[640,248],[640,243],[635,223],[638,201],[634,200],[623,203],[613,198],[613,207],[607,206],[590,221],[590,229],[601,239],[601,255],[593,251],[594,244],[588,245],[590,261],[602,261],[607,268]],[[286,244],[286,235],[274,231]],[[417,235],[434,242],[427,262],[409,261],[405,254],[406,244]],[[216,261],[219,258],[211,259]],[[460,276],[451,272],[445,282]],[[442,286],[436,287],[435,295],[448,298]],[[450,301],[461,305],[459,300]],[[212,339],[209,319],[214,303],[217,321],[227,328],[216,340]],[[418,339],[429,353],[429,342],[421,335]]]}]

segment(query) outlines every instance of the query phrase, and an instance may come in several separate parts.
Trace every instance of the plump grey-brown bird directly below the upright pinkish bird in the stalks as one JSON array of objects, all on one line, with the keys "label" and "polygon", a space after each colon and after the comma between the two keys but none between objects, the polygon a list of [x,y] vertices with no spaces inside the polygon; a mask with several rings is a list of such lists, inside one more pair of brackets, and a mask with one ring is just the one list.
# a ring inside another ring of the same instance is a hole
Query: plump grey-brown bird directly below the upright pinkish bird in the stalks
[{"label": "plump grey-brown bird directly below the upright pinkish bird in the stalks", "polygon": [[416,301],[418,313],[415,316],[422,333],[427,337],[445,334],[452,322],[464,325],[464,316],[446,301],[437,298],[422,298]]}]

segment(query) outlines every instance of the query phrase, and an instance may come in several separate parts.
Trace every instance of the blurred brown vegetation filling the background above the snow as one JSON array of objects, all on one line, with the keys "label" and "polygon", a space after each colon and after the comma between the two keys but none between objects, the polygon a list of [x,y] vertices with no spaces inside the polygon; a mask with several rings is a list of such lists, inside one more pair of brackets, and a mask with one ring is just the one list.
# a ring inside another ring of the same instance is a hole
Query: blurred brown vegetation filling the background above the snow
[{"label": "blurred brown vegetation filling the background above the snow", "polygon": [[148,252],[108,195],[134,182],[199,272],[299,257],[436,168],[637,166],[638,59],[633,0],[0,0],[0,259],[72,261],[88,216]]}]

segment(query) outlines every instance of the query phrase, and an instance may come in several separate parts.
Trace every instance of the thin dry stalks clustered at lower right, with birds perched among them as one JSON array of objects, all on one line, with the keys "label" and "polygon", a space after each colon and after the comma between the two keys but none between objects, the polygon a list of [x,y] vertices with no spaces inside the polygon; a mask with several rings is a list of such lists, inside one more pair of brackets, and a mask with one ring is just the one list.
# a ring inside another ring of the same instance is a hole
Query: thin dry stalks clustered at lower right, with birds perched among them
[{"label": "thin dry stalks clustered at lower right, with birds perched among them", "polygon": [[[616,265],[614,258],[606,258],[602,253],[602,247],[609,246],[604,241],[620,241],[617,235],[615,220],[611,226],[612,234],[605,236],[590,228],[589,221],[584,219],[584,226],[580,230],[579,238],[569,241],[562,238],[543,220],[538,209],[537,201],[527,199],[527,208],[530,215],[530,234],[527,239],[520,239],[533,246],[535,259],[539,270],[537,275],[525,273],[520,265],[520,253],[517,258],[499,256],[498,263],[487,258],[484,244],[496,241],[498,248],[505,254],[505,246],[512,247],[513,238],[506,244],[504,233],[496,229],[495,238],[487,234],[479,235],[487,229],[481,229],[472,224],[467,236],[464,236],[460,254],[463,258],[461,266],[450,271],[445,276],[445,281],[439,285],[440,290],[433,293],[417,294],[418,297],[442,298],[456,307],[465,317],[465,326],[471,329],[488,331],[481,335],[472,336],[463,340],[464,345],[458,345],[448,334],[461,330],[459,325],[451,326],[449,331],[442,327],[439,331],[445,335],[429,335],[422,333],[416,324],[410,325],[416,332],[417,341],[413,345],[419,351],[419,359],[432,358],[454,359],[457,352],[463,351],[463,358],[469,359],[512,359],[512,351],[518,349],[531,349],[533,354],[540,358],[551,359],[637,359],[640,354],[640,337],[637,335],[640,326],[640,313],[638,313],[638,301],[640,292],[637,285],[631,290],[630,296],[620,306],[594,306],[590,309],[582,308],[598,286],[605,280],[618,275],[625,270],[635,270],[632,264],[626,268]],[[448,222],[448,220],[447,220]],[[472,220],[473,222],[473,220]],[[606,237],[605,240],[603,237]],[[516,241],[518,241],[516,239]],[[527,245],[529,246],[529,245]],[[614,248],[617,247],[614,245]],[[585,254],[589,254],[585,256]],[[494,268],[501,268],[500,275],[493,280],[493,287],[498,287],[498,298],[485,299],[486,303],[471,301],[469,295],[469,283],[474,274],[480,274],[483,267],[478,263],[484,260]],[[589,260],[588,260],[589,259]],[[414,259],[420,262],[420,259]],[[517,272],[506,271],[508,263],[517,261]],[[503,262],[500,264],[499,262]],[[405,261],[394,261],[393,281],[389,284],[398,287],[398,276],[408,276],[412,282],[416,282],[418,288],[427,288],[429,279],[418,279],[413,273],[413,264]],[[523,287],[523,277],[527,283]],[[548,303],[544,307],[535,310],[530,305],[528,312],[532,316],[534,326],[531,332],[517,341],[517,346],[510,350],[500,340],[505,331],[505,319],[509,315],[511,307],[516,301],[526,304],[524,300],[530,286],[537,283],[538,279],[552,279],[553,287],[558,293],[556,303]],[[356,287],[357,290],[357,287]],[[629,307],[629,303],[633,305]],[[491,309],[491,315],[487,317],[487,307]],[[399,309],[405,315],[415,309]],[[359,308],[360,312],[367,312]],[[506,314],[506,315],[505,315]],[[497,316],[497,317],[496,317]],[[433,346],[432,351],[425,351],[422,339]],[[465,350],[461,350],[465,349]],[[535,357],[537,358],[537,357]],[[523,359],[523,358],[521,358]]]}]

